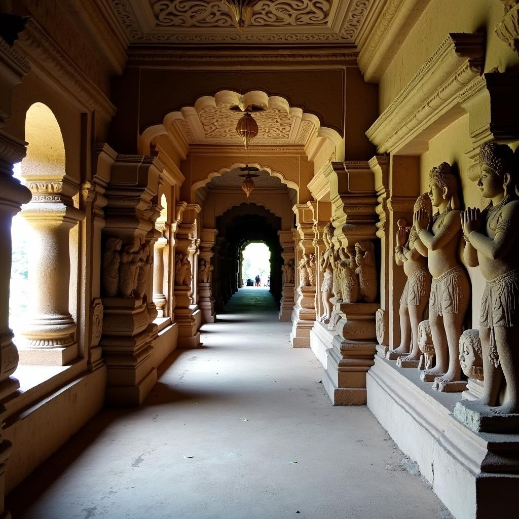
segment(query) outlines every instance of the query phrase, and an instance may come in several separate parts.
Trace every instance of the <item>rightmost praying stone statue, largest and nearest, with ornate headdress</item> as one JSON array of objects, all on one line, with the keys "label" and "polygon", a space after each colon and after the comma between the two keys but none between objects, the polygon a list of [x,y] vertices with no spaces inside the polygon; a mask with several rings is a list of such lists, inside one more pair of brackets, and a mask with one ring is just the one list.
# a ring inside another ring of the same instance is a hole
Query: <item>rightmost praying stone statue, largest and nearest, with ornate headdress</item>
[{"label": "rightmost praying stone statue, largest and nearest, with ornate headdress", "polygon": [[467,209],[461,216],[465,259],[479,265],[486,279],[481,302],[480,338],[485,376],[483,397],[475,403],[495,406],[502,377],[508,400],[493,407],[496,414],[519,413],[519,201],[517,165],[506,144],[486,143],[479,155],[477,185],[490,203],[480,212]]}]

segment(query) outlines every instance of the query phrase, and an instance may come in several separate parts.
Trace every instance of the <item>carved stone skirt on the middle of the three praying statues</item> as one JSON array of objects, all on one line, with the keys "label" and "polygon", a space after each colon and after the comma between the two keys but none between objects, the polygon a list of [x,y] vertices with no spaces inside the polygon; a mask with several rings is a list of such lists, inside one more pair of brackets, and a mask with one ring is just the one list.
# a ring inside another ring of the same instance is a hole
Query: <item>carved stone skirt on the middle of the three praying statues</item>
[{"label": "carved stone skirt on the middle of the three praying statues", "polygon": [[470,283],[465,270],[459,265],[447,270],[443,276],[432,279],[429,313],[439,316],[444,313],[458,313],[459,305],[468,305]]}]

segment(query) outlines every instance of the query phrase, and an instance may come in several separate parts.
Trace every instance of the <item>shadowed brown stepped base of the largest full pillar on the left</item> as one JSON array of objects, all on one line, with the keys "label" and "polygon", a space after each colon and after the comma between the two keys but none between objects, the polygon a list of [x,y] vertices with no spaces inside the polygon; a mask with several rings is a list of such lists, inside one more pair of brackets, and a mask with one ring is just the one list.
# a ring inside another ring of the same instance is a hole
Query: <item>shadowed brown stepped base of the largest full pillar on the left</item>
[{"label": "shadowed brown stepped base of the largest full pillar on the left", "polygon": [[108,367],[106,401],[139,405],[157,382],[153,346],[146,328],[149,314],[142,299],[104,297],[100,345]]}]

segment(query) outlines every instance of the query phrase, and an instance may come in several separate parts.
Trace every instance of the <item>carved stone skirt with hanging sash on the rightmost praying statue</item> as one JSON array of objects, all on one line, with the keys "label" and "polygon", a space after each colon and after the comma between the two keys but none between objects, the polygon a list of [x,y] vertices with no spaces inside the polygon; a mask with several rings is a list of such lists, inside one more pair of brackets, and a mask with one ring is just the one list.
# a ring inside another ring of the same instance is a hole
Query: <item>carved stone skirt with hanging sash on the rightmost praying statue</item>
[{"label": "carved stone skirt with hanging sash on the rightmost praying statue", "polygon": [[[488,356],[497,367],[495,327],[510,327],[519,321],[519,269],[487,281],[481,299],[480,326],[490,329]],[[515,346],[515,345],[514,345]]]}]

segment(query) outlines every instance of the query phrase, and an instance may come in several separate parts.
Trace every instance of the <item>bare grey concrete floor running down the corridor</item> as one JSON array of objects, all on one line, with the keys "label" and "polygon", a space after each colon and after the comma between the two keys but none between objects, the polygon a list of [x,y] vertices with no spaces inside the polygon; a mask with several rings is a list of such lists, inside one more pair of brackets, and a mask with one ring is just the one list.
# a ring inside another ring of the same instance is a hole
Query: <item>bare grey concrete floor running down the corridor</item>
[{"label": "bare grey concrete floor running down the corridor", "polygon": [[449,517],[366,407],[331,405],[290,329],[241,289],[143,406],[106,409],[11,493],[13,519]]}]

